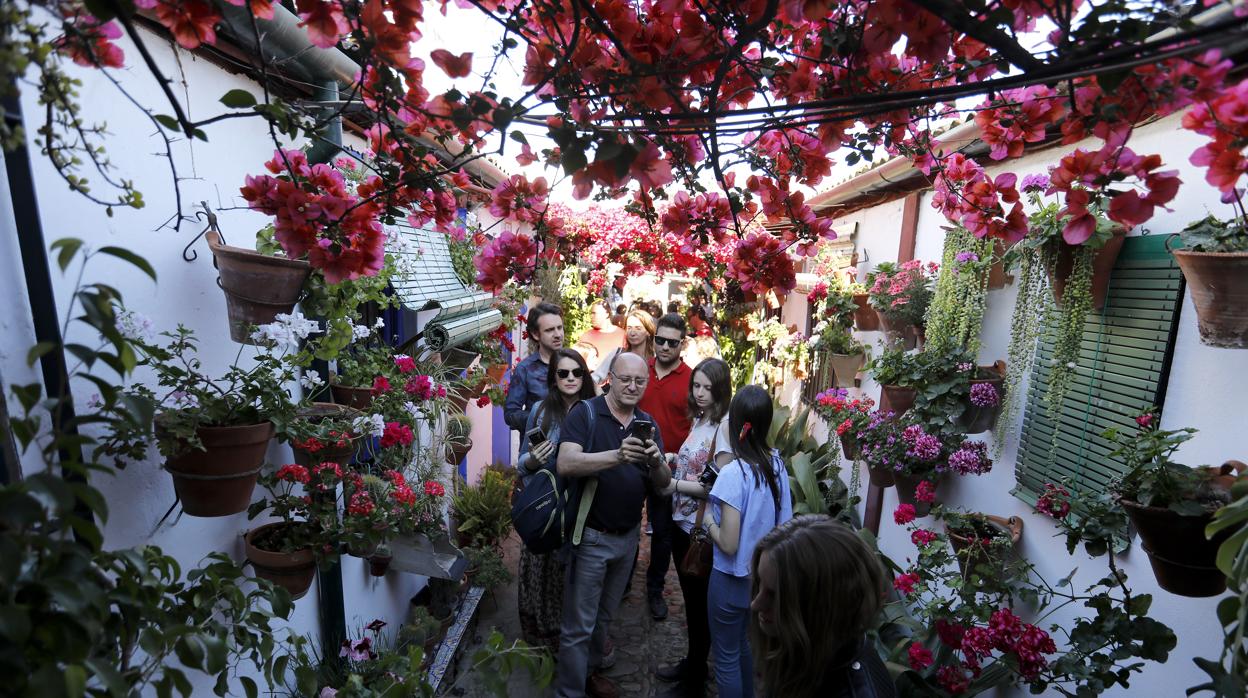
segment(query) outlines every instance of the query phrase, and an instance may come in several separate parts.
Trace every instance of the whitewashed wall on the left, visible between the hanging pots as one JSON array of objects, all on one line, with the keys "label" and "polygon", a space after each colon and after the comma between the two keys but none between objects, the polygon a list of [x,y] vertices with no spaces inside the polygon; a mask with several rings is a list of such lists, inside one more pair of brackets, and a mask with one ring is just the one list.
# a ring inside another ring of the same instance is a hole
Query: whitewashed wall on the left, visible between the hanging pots
[{"label": "whitewashed wall on the left, visible between the hanging pots", "polygon": [[[126,52],[127,62],[137,62],[139,52],[127,40],[119,44]],[[173,80],[175,92],[185,100],[191,119],[203,119],[222,111],[217,99],[228,90],[245,89],[258,96],[260,90],[246,79],[232,75],[218,66],[187,51],[176,50],[156,36],[149,36],[156,61]],[[71,66],[72,67],[72,66]],[[117,167],[117,176],[132,179],[142,191],[147,205],[142,210],[117,209],[114,217],[105,210],[72,194],[55,174],[46,159],[31,144],[37,205],[42,221],[45,242],[60,237],[80,237],[89,247],[119,245],[146,257],[157,270],[158,283],[152,283],[129,265],[100,257],[92,261],[85,281],[102,281],[119,288],[131,310],[150,317],[157,331],[172,330],[178,323],[192,328],[200,340],[200,357],[205,368],[220,375],[240,352],[240,345],[230,340],[227,331],[225,297],[216,285],[216,270],[207,243],[201,238],[195,245],[198,258],[187,263],[182,260],[182,247],[191,241],[201,226],[196,221],[183,224],[181,232],[163,226],[172,216],[173,189],[167,161],[155,154],[162,151],[162,142],[154,127],[137,110],[124,100],[111,84],[90,70],[76,70],[82,79],[81,101],[86,119],[109,125],[107,155]],[[116,72],[127,90],[141,104],[151,105],[158,114],[171,110],[156,82],[141,69]],[[187,90],[186,86],[193,86]],[[27,137],[37,127],[42,112],[35,95],[26,90],[22,110],[27,119]],[[191,214],[198,201],[207,201],[217,211],[226,240],[236,246],[250,247],[255,232],[265,226],[267,216],[250,211],[238,196],[238,187],[247,174],[262,170],[272,156],[273,144],[261,120],[227,120],[205,129],[208,140],[178,142],[175,147],[182,181],[183,212]],[[348,135],[348,140],[351,136]],[[356,142],[359,146],[362,144]],[[0,371],[7,385],[25,383],[39,378],[37,365],[27,368],[26,350],[34,343],[34,330],[29,317],[25,278],[17,252],[14,217],[10,210],[7,180],[0,171],[0,293],[7,300],[0,303]],[[106,196],[99,177],[92,177],[94,191]],[[163,226],[163,227],[162,227]],[[71,270],[74,271],[74,270]],[[55,302],[59,312],[70,310],[74,275],[62,275],[55,262],[51,268],[55,285]],[[432,313],[427,313],[432,315]],[[422,316],[422,321],[427,317]],[[80,327],[71,326],[67,341],[89,340]],[[87,341],[85,343],[94,343]],[[251,347],[242,348],[242,362],[248,361]],[[149,376],[139,376],[147,380]],[[82,410],[91,395],[90,386],[75,386],[75,398]],[[479,438],[478,451],[489,450],[489,413],[470,408],[477,422],[474,436]],[[272,442],[270,462],[288,462],[290,450]],[[37,453],[24,457],[24,471],[40,467]],[[151,456],[134,463],[115,477],[94,481],[107,502],[111,516],[105,531],[105,546],[121,548],[136,544],[157,544],[177,558],[183,569],[195,567],[212,552],[225,552],[235,559],[243,558],[241,534],[260,522],[248,522],[246,513],[221,518],[178,517],[157,526],[165,512],[173,504],[172,482],[162,469],[155,448]],[[257,489],[257,496],[261,493]],[[382,618],[397,628],[407,612],[408,599],[424,584],[426,578],[391,572],[383,578],[368,574],[364,561],[343,557],[342,579],[348,634],[358,634],[359,628],[374,618]],[[290,619],[290,629],[318,637],[318,589],[313,583],[308,594],[296,602]],[[318,641],[316,641],[318,642]],[[210,693],[211,684],[196,683],[196,694]]]}]

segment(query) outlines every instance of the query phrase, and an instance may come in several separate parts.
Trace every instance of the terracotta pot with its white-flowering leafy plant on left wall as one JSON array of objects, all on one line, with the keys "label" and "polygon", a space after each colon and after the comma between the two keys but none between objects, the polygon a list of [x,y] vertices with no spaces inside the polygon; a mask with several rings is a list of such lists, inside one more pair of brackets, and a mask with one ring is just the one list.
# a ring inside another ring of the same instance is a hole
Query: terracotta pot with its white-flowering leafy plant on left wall
[{"label": "terracotta pot with its white-flowering leafy plant on left wall", "polygon": [[[255,365],[231,366],[220,378],[203,372],[195,335],[178,326],[162,333],[165,345],[135,341],[140,366],[156,373],[163,392],[131,386],[136,403],[158,405],[156,445],[165,469],[190,516],[242,512],[251,502],[275,422],[285,425],[293,410],[287,385],[295,375],[277,355],[261,350]],[[109,448],[122,451],[147,438],[146,426],[117,430]],[[130,452],[134,452],[130,450]]]}]

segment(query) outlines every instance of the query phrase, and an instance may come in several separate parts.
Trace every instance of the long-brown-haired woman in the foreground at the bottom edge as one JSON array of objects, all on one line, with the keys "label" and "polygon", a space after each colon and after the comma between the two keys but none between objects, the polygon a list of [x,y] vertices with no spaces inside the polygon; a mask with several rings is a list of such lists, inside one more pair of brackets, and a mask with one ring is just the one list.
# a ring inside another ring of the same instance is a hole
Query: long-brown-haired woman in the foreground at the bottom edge
[{"label": "long-brown-haired woman in the foreground at the bottom edge", "polygon": [[896,687],[866,639],[887,577],[871,546],[827,516],[781,523],[754,548],[750,646],[763,694],[891,698]]}]

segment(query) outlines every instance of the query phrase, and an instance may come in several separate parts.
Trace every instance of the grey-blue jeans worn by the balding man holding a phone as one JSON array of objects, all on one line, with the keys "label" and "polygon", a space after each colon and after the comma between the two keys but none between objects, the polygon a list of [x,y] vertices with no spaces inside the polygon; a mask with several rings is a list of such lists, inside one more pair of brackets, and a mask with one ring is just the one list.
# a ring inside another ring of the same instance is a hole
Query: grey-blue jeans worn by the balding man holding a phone
[{"label": "grey-blue jeans worn by the balding man holding a phone", "polygon": [[590,667],[603,661],[612,618],[624,598],[639,528],[614,536],[585,527],[573,548],[563,589],[563,627],[559,631],[559,666],[555,696],[585,694]]}]

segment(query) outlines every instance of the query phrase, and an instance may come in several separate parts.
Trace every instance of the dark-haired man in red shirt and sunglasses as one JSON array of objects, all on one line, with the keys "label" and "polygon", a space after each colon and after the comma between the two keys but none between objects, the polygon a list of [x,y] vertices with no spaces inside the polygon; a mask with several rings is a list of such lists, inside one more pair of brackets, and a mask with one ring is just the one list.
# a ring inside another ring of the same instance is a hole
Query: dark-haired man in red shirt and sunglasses
[{"label": "dark-haired man in red shirt and sunglasses", "polygon": [[[680,451],[689,437],[689,380],[693,368],[680,360],[685,347],[688,327],[678,313],[669,312],[659,318],[654,332],[654,358],[650,360],[650,382],[638,405],[658,423],[659,435],[669,453]],[[646,498],[646,517],[650,521],[650,568],[645,572],[645,591],[650,616],[655,621],[668,617],[668,603],[663,601],[663,583],[671,563],[671,497],[650,494]]]}]

